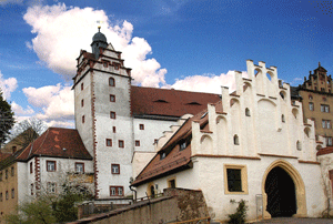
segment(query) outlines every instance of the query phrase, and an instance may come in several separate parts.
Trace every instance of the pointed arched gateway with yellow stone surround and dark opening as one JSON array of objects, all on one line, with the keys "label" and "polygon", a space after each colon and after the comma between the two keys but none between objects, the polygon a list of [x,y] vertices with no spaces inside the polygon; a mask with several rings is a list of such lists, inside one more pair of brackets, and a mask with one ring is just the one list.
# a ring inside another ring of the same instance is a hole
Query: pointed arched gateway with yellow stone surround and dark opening
[{"label": "pointed arched gateway with yellow stone surround and dark opening", "polygon": [[264,218],[306,216],[305,186],[300,173],[286,161],[278,160],[262,181]]}]

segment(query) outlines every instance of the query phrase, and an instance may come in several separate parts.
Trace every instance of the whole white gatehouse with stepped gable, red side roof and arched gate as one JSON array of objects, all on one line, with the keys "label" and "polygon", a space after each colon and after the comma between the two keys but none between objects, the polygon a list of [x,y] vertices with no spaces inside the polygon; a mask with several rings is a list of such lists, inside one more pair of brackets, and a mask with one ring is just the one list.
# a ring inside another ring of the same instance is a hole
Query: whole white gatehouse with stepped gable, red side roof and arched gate
[{"label": "whole white gatehouse with stepped gable, red side roof and arched gate", "polygon": [[[215,222],[225,222],[245,200],[249,221],[271,216],[321,216],[322,186],[314,122],[278,69],[248,60],[249,79],[236,72],[236,91],[186,120],[158,149],[132,183],[138,197],[167,187],[201,190]],[[256,74],[255,74],[256,73]],[[268,79],[269,77],[269,79]],[[322,138],[320,138],[322,140]]]}]

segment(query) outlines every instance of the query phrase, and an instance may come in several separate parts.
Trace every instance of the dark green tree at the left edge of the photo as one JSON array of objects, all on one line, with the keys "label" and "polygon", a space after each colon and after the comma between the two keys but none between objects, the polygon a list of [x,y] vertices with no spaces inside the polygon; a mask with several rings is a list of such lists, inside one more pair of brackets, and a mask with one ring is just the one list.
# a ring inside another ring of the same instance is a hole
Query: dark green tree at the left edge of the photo
[{"label": "dark green tree at the left edge of the photo", "polygon": [[9,130],[14,124],[13,115],[11,105],[3,99],[0,90],[0,145],[7,140]]}]

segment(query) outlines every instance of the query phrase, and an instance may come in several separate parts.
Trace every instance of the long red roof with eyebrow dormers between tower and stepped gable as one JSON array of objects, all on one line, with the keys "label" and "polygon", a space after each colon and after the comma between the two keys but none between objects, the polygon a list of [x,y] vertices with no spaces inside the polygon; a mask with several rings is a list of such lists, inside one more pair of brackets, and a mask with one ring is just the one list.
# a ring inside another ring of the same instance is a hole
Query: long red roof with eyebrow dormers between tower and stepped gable
[{"label": "long red roof with eyebrow dormers between tower and stepped gable", "polygon": [[138,115],[182,116],[196,114],[208,103],[216,103],[219,94],[131,86],[131,110]]}]

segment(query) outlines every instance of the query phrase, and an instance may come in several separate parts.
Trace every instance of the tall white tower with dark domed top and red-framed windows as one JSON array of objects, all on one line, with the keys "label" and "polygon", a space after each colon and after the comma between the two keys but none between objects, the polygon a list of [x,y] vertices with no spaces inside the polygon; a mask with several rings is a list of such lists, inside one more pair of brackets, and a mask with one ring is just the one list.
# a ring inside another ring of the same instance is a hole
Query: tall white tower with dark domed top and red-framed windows
[{"label": "tall white tower with dark domed top and red-framed windows", "polygon": [[75,126],[93,156],[95,198],[121,198],[132,176],[131,69],[100,30],[91,47],[77,59]]}]

